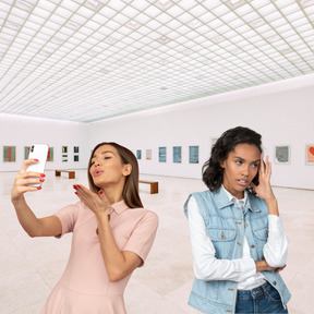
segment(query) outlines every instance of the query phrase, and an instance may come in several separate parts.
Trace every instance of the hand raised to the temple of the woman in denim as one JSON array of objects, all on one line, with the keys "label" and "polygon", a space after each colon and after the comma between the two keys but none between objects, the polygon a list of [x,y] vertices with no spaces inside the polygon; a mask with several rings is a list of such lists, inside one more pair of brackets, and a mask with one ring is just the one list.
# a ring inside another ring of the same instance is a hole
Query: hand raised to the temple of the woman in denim
[{"label": "hand raised to the temple of the woman in denim", "polygon": [[273,193],[273,189],[270,185],[271,164],[269,161],[268,156],[266,156],[266,160],[264,164],[263,155],[261,154],[258,173],[259,173],[258,176],[259,184],[255,185],[253,182],[251,182],[251,186],[255,190],[255,192],[261,198],[264,198],[265,201],[275,198],[275,195]]}]

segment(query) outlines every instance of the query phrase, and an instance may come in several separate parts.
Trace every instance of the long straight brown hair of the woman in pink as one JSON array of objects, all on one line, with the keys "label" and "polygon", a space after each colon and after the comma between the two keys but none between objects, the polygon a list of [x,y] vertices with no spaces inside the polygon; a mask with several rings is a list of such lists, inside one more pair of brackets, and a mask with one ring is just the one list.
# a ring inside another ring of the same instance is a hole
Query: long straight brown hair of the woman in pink
[{"label": "long straight brown hair of the woman in pink", "polygon": [[121,161],[123,165],[130,164],[132,166],[132,171],[131,173],[125,178],[123,191],[122,191],[122,197],[125,204],[130,208],[138,208],[138,207],[144,207],[138,194],[138,164],[137,160],[134,156],[134,154],[128,149],[124,146],[121,146],[114,142],[104,142],[95,146],[95,148],[92,152],[92,155],[89,157],[88,161],[88,168],[87,168],[87,176],[88,176],[88,183],[89,183],[89,189],[90,191],[98,193],[99,188],[94,184],[93,178],[89,173],[89,169],[92,166],[92,158],[96,152],[97,148],[99,148],[102,145],[110,145],[114,147],[118,150],[118,154],[121,158]]}]

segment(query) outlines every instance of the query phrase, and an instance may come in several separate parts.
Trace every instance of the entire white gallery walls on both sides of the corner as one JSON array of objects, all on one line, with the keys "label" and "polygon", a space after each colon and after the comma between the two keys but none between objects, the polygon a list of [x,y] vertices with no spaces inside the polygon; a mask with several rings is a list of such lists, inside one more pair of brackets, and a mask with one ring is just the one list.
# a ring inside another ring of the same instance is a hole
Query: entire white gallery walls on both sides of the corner
[{"label": "entire white gallery walls on both sides of the corner", "polygon": [[[138,160],[141,173],[183,178],[202,177],[210,154],[212,137],[243,125],[263,135],[265,154],[273,161],[271,183],[314,189],[314,166],[305,165],[305,145],[314,144],[314,75],[271,83],[225,95],[132,113],[94,123],[43,120],[0,114],[0,171],[16,171],[24,159],[24,146],[47,143],[55,160],[47,169],[86,168],[90,149],[104,141],[129,147]],[[274,162],[275,146],[289,145],[288,165]],[[3,162],[3,146],[16,146],[16,161]],[[62,146],[69,158],[62,161]],[[73,147],[80,161],[73,161]],[[167,147],[167,162],[158,162],[158,147]],[[182,162],[173,164],[172,147],[182,147]],[[189,146],[200,146],[200,162],[189,164]],[[152,149],[152,159],[146,159]]]}]

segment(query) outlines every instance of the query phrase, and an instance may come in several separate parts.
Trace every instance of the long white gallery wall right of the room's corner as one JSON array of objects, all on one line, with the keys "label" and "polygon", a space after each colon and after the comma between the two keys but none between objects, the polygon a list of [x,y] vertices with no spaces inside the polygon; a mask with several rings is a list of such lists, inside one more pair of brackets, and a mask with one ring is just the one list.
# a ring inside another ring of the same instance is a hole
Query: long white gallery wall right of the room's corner
[{"label": "long white gallery wall right of the room's corner", "polygon": [[[238,125],[263,135],[265,154],[273,162],[271,183],[314,189],[314,166],[305,165],[305,145],[314,144],[314,75],[193,100],[168,108],[92,123],[90,141],[114,141],[134,154],[141,173],[202,177],[212,137]],[[189,146],[200,146],[200,164],[189,164]],[[275,146],[289,145],[288,165],[274,162]],[[158,147],[167,147],[167,162],[158,162]],[[182,146],[182,162],[173,164],[172,147]],[[152,149],[152,159],[146,159]]]}]

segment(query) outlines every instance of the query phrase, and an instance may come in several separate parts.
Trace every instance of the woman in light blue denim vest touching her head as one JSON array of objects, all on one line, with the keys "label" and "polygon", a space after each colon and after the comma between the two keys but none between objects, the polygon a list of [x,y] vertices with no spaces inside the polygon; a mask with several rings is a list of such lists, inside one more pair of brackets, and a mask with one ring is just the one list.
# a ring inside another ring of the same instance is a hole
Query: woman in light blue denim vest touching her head
[{"label": "woman in light blue denim vest touching her head", "polygon": [[209,190],[189,196],[194,274],[189,304],[204,313],[288,313],[290,292],[279,270],[287,263],[271,166],[261,135],[226,131],[203,166]]}]

